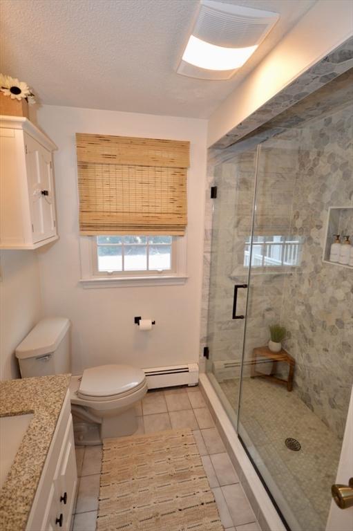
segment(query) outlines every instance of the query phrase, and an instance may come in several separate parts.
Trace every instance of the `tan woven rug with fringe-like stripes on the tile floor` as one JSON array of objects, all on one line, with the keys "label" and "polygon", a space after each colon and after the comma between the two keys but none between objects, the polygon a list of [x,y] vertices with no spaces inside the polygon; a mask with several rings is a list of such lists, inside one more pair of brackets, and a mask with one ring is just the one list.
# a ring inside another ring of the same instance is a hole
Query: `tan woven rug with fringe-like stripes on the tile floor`
[{"label": "tan woven rug with fringe-like stripes on the tile floor", "polygon": [[97,531],[224,531],[190,429],[104,440]]}]

